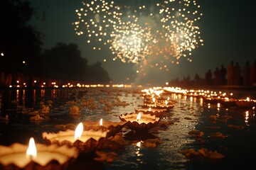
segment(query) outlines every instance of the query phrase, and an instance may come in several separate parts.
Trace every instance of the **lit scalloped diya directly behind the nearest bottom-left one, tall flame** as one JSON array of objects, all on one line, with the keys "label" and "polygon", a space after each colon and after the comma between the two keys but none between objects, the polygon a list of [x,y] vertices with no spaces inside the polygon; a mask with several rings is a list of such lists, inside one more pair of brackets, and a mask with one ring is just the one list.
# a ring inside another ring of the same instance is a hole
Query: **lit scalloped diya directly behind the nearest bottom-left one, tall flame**
[{"label": "lit scalloped diya directly behind the nearest bottom-left one, tall flame", "polygon": [[80,153],[95,152],[100,149],[100,145],[107,137],[104,130],[83,130],[82,123],[79,123],[74,130],[53,132],[43,132],[42,137],[50,144],[68,145],[77,147]]}]

